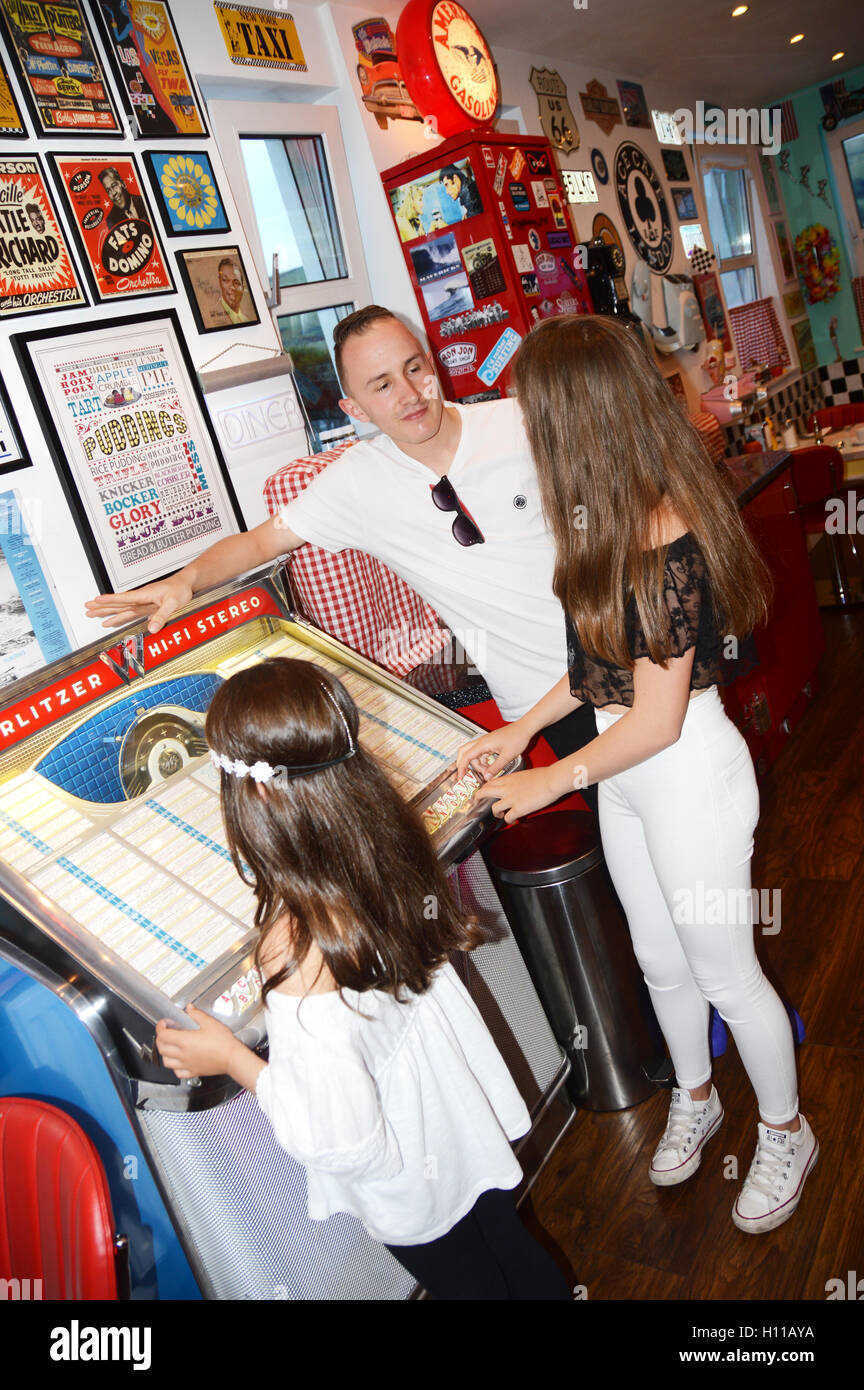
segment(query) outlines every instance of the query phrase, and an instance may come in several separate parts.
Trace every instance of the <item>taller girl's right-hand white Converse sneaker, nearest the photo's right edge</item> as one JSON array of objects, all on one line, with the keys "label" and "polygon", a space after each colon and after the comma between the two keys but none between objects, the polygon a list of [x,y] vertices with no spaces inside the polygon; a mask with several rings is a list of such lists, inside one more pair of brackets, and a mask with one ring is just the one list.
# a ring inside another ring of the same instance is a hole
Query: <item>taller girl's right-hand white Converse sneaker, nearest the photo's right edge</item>
[{"label": "taller girl's right-hand white Converse sneaker, nearest the photo's right edge", "polygon": [[739,1230],[757,1234],[789,1220],[797,1207],[804,1179],[820,1156],[820,1145],[804,1116],[797,1133],[758,1125],[758,1144],[745,1186],[732,1208]]}]

